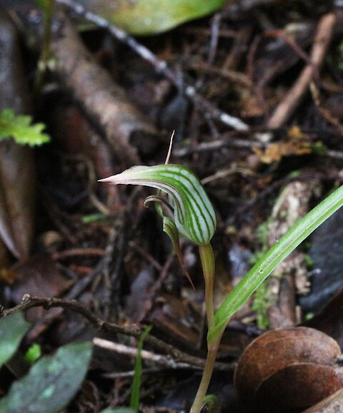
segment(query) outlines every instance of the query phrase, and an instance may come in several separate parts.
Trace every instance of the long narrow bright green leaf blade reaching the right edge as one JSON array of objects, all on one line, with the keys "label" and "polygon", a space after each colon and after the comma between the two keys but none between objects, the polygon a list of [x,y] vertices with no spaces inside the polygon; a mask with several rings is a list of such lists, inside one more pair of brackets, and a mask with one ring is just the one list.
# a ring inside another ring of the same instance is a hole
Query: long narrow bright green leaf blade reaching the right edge
[{"label": "long narrow bright green leaf blade reaching the right edge", "polygon": [[252,267],[245,277],[234,287],[222,302],[215,315],[214,329],[209,331],[208,340],[220,334],[241,305],[261,285],[268,275],[316,228],[343,206],[343,185],[295,223],[286,234]]}]

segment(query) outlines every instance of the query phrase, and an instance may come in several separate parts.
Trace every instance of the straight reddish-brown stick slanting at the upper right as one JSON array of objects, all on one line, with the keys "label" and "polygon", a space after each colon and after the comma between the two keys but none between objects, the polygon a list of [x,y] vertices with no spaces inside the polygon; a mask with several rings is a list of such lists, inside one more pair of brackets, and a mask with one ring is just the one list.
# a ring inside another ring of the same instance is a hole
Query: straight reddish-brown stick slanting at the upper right
[{"label": "straight reddish-brown stick slanting at the upper right", "polygon": [[324,57],[326,56],[327,48],[332,39],[335,22],[336,16],[332,13],[325,14],[319,21],[317,34],[312,47],[311,63],[305,66],[299,78],[297,78],[297,81],[294,83],[294,86],[290,88],[287,95],[275,109],[271,118],[269,118],[267,123],[269,128],[273,129],[282,126],[297,108],[304,93],[309,88],[309,83],[311,83],[314,76],[319,71]]}]

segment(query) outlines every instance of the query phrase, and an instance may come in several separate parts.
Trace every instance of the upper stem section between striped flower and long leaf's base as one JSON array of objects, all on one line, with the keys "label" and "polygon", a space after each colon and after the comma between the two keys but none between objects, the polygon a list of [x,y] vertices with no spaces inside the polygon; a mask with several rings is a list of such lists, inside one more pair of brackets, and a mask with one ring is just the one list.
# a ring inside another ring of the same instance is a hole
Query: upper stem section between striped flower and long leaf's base
[{"label": "upper stem section between striped flower and long leaf's base", "polygon": [[202,260],[202,272],[205,280],[205,305],[207,314],[207,327],[214,328],[214,307],[213,307],[213,282],[214,282],[214,253],[210,243],[199,245],[199,255]]}]

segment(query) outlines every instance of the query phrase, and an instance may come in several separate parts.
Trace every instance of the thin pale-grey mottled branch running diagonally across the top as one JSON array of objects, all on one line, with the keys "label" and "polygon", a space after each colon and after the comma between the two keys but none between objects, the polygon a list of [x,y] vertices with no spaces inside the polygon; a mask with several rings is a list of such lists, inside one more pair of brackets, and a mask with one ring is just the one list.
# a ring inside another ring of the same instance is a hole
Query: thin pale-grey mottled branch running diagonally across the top
[{"label": "thin pale-grey mottled branch running diagonally across the top", "polygon": [[[109,31],[109,33],[112,36],[114,36],[117,40],[129,46],[139,56],[141,56],[141,58],[144,58],[144,60],[151,63],[151,65],[154,66],[157,73],[162,73],[166,78],[169,79],[169,81],[171,81],[174,84],[174,86],[180,88],[179,77],[168,66],[168,63],[166,63],[166,61],[164,60],[159,59],[154,53],[152,53],[142,44],[139,44],[139,42],[136,41],[136,39],[134,39],[132,36],[129,36],[129,34],[127,34],[126,31],[114,26],[114,24],[104,19],[103,17],[97,16],[96,14],[91,13],[91,11],[87,11],[84,6],[82,6],[79,3],[76,3],[76,1],[74,0],[57,1],[59,4],[64,4],[64,6],[68,7],[71,11],[74,11],[74,13],[78,14],[79,16],[84,17],[84,19],[96,24],[96,26],[99,26],[102,29]],[[212,118],[217,119],[217,121],[220,121],[225,125],[236,129],[237,131],[249,130],[249,126],[247,125],[247,123],[244,123],[241,119],[235,116],[231,116],[228,113],[225,113],[218,109],[212,103],[200,96],[199,93],[197,93],[194,86],[187,85],[184,88],[184,94],[185,96],[187,96],[187,98],[190,99],[190,101],[192,101],[192,103],[194,103],[194,105],[199,106],[199,108],[202,109],[202,111],[207,111],[209,115],[212,116]]]}]

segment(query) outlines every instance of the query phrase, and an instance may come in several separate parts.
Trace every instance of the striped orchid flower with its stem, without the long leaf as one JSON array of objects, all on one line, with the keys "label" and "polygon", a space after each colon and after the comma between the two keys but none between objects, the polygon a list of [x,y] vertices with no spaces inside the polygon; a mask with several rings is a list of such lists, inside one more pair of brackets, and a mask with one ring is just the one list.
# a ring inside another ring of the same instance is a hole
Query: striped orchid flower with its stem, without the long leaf
[{"label": "striped orchid flower with its stem, without the long leaf", "polygon": [[[214,254],[210,241],[217,226],[216,215],[212,203],[197,176],[182,165],[168,163],[171,147],[172,139],[164,165],[134,166],[117,175],[101,179],[100,182],[108,182],[113,185],[144,185],[158,190],[156,195],[146,198],[144,205],[149,202],[156,203],[156,210],[163,218],[163,230],[171,238],[184,273],[191,283],[192,280],[184,266],[179,238],[185,238],[198,245],[205,281],[207,325],[209,330],[213,330]],[[166,193],[167,200],[161,197],[161,192]],[[164,215],[161,205],[166,205],[172,213],[171,218]],[[202,407],[219,342],[215,342],[215,346],[215,348],[213,346],[209,347],[209,359],[205,365],[204,379],[202,379],[197,397],[194,399],[192,413],[199,413]]]}]

